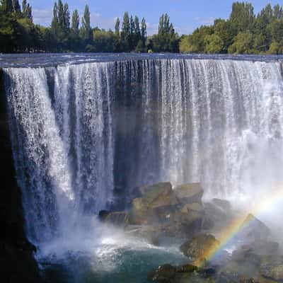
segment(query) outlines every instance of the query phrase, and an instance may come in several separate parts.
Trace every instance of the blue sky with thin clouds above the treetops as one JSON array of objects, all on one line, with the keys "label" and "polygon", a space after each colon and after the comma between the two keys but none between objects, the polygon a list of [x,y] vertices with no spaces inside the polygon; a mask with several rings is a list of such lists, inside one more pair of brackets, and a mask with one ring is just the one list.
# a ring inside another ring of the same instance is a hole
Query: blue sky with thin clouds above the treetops
[{"label": "blue sky with thin clouds above the treetops", "polygon": [[[64,0],[63,0],[64,1]],[[35,23],[50,25],[52,18],[52,7],[54,1],[29,0],[33,6],[33,18]],[[100,28],[113,28],[115,19],[122,18],[123,13],[137,15],[146,18],[148,33],[156,33],[158,29],[158,18],[162,13],[168,13],[178,33],[192,33],[202,24],[213,23],[215,18],[228,18],[231,12],[233,0],[67,0],[69,8],[73,11],[79,10],[83,14],[85,4],[90,6],[91,25]],[[253,0],[250,1],[258,13],[263,6],[270,3],[282,4],[282,1]]]}]

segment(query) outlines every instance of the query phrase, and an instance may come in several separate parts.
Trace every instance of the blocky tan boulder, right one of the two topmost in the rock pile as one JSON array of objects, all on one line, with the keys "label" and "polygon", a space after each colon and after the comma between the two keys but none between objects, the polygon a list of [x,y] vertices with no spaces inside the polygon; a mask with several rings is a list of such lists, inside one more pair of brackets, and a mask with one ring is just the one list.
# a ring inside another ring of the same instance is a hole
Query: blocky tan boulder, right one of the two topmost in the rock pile
[{"label": "blocky tan boulder, right one of the two topmost in the rock pile", "polygon": [[174,192],[181,204],[202,203],[203,190],[200,183],[178,185]]}]

